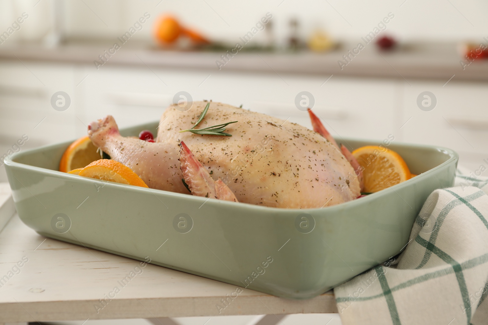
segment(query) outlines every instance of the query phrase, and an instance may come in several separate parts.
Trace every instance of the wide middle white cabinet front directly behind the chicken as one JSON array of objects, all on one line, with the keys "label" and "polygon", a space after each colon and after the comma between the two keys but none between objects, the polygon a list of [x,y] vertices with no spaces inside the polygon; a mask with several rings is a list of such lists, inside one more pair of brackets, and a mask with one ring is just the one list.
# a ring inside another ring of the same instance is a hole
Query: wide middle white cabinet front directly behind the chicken
[{"label": "wide middle white cabinet front directly behind the chicken", "polygon": [[[312,94],[314,112],[332,134],[384,139],[395,128],[401,83],[332,76],[188,72],[102,67],[86,70],[85,121],[114,115],[121,126],[159,119],[180,91],[193,100],[212,99],[274,115],[311,127],[308,114],[295,106],[302,91]],[[327,80],[327,82],[325,82]],[[324,83],[325,82],[325,83]]]}]

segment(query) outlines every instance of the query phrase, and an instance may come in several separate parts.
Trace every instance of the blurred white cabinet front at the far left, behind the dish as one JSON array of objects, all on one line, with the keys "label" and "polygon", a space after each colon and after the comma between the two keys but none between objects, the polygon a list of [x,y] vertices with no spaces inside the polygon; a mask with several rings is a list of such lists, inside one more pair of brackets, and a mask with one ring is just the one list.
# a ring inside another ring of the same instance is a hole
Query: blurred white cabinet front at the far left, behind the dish
[{"label": "blurred white cabinet front at the far left, behind the dish", "polygon": [[[24,65],[25,64],[25,65]],[[75,136],[78,107],[70,65],[0,62],[0,137],[2,144],[27,134],[27,146]],[[63,112],[51,106],[51,96],[63,91],[71,104]]]}]

